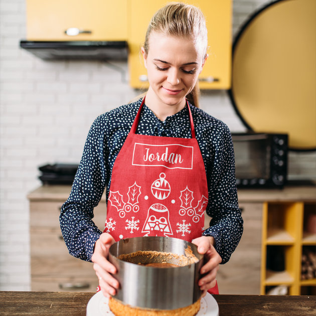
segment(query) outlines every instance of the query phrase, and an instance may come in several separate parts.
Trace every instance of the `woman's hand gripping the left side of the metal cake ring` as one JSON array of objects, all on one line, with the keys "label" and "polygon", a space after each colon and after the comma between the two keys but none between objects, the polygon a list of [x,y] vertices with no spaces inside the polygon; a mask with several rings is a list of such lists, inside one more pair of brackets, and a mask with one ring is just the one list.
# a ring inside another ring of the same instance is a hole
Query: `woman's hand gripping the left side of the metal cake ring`
[{"label": "woman's hand gripping the left side of the metal cake ring", "polygon": [[116,289],[119,287],[118,281],[110,274],[116,273],[115,266],[107,260],[109,248],[115,242],[114,238],[103,233],[94,245],[92,255],[93,269],[99,278],[99,285],[105,297],[115,295]]}]

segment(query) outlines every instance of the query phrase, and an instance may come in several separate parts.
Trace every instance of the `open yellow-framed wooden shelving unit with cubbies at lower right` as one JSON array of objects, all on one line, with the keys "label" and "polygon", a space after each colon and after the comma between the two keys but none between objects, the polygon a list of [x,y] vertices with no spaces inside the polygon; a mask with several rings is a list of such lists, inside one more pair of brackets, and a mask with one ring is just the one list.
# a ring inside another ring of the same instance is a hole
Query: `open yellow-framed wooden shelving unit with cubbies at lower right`
[{"label": "open yellow-framed wooden shelving unit with cubbies at lower right", "polygon": [[263,203],[260,294],[278,285],[287,286],[289,295],[301,295],[303,287],[316,288],[316,278],[301,280],[303,247],[316,251],[316,234],[307,232],[312,214],[316,199]]}]

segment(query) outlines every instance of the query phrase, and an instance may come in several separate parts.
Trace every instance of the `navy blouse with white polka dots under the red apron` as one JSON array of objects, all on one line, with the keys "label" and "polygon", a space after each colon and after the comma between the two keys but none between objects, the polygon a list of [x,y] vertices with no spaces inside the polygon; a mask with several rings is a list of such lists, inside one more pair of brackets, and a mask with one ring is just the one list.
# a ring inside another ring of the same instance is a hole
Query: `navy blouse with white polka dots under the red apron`
[{"label": "navy blouse with white polka dots under the red apron", "polygon": [[[90,128],[70,196],[60,214],[60,226],[69,253],[82,260],[91,261],[94,244],[101,234],[92,221],[93,208],[99,203],[105,188],[108,198],[114,161],[140,104],[141,99],[102,114]],[[208,182],[209,203],[206,212],[212,217],[210,227],[202,235],[215,238],[216,250],[222,257],[222,263],[225,263],[243,231],[231,134],[220,120],[191,104],[190,108]],[[144,105],[136,133],[190,138],[188,108],[162,122]]]}]

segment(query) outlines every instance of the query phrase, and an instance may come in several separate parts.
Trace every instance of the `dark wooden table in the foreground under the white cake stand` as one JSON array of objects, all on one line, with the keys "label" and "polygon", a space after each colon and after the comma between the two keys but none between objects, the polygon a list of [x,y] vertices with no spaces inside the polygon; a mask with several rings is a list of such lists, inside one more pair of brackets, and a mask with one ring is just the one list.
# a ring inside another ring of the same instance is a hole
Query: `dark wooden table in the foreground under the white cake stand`
[{"label": "dark wooden table in the foreground under the white cake stand", "polygon": [[[0,315],[85,316],[89,292],[0,292]],[[220,316],[316,316],[316,296],[214,295]]]}]

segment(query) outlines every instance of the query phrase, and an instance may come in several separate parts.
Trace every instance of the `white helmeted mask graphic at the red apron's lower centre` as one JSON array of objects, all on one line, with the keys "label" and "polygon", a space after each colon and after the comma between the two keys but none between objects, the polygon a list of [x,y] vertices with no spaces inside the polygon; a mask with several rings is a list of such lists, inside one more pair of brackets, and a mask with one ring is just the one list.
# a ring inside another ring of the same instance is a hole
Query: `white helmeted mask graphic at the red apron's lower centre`
[{"label": "white helmeted mask graphic at the red apron's lower centre", "polygon": [[146,233],[145,236],[173,235],[169,221],[169,210],[165,205],[156,203],[150,206],[141,232]]}]

